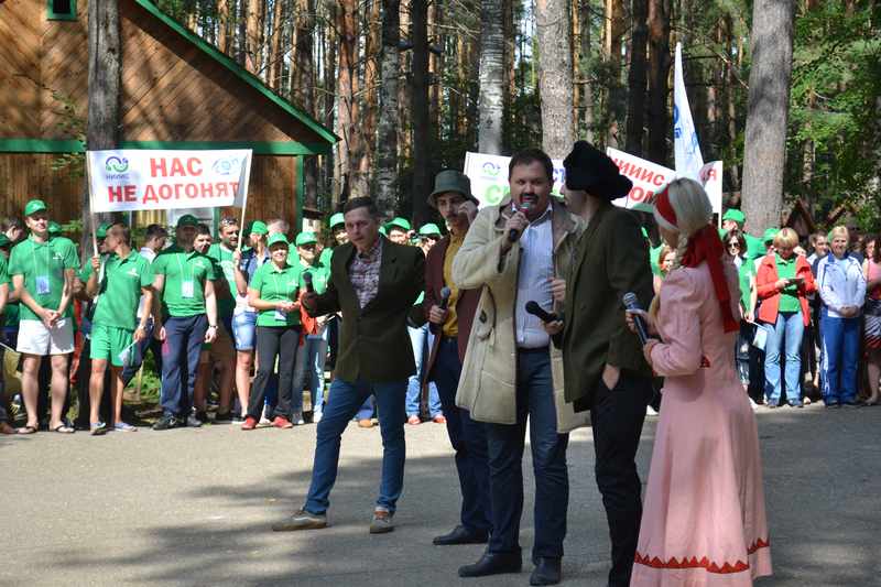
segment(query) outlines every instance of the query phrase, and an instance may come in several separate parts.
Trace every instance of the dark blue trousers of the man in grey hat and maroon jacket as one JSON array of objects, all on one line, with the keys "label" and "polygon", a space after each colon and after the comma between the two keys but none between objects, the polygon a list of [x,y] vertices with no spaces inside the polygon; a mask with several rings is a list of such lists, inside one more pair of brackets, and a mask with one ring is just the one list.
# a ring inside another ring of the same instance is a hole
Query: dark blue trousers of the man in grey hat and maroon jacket
[{"label": "dark blue trousers of the man in grey hat and maroon jacket", "polygon": [[458,343],[443,337],[434,363],[434,381],[447,418],[449,443],[456,452],[456,470],[461,489],[461,525],[474,533],[489,532],[489,461],[483,424],[471,420],[468,410],[456,405],[456,389],[461,374]]}]

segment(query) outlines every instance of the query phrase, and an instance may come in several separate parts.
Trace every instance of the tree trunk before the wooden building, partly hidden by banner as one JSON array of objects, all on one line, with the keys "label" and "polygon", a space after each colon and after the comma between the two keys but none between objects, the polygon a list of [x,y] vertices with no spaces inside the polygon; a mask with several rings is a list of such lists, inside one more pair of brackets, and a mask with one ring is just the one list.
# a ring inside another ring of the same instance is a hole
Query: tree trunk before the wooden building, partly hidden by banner
[{"label": "tree trunk before the wooden building, partly hidden by banner", "polygon": [[[90,151],[116,149],[121,135],[119,86],[121,45],[118,0],[90,0],[88,14],[89,73],[86,146]],[[97,170],[96,170],[97,171]],[[88,177],[83,192],[83,237],[80,251],[91,257],[91,229],[109,219],[108,214],[91,215]]]}]

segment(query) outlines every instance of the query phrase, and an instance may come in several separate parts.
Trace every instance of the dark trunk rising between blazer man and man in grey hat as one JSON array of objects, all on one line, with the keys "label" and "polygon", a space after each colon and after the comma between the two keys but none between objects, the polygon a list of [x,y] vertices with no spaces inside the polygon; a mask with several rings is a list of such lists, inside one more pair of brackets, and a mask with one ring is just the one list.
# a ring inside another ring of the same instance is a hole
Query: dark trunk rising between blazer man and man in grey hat
[{"label": "dark trunk rising between blazer man and man in grey hat", "polygon": [[413,113],[413,220],[421,225],[427,219],[426,197],[431,192],[432,135],[428,119],[428,8],[414,1],[410,15],[413,21],[413,83],[410,109]]}]

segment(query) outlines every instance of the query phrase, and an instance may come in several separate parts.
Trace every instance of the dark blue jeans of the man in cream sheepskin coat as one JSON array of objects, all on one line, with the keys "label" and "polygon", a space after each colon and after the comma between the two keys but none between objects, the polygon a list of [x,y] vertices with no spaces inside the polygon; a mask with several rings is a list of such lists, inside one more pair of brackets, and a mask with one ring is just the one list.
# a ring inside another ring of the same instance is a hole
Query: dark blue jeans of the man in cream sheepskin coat
[{"label": "dark blue jeans of the man in cream sheepskin coat", "polygon": [[[485,424],[492,500],[492,535],[487,550],[490,553],[520,552],[523,447],[529,417],[535,475],[535,543],[532,555],[559,558],[563,556],[569,503],[566,466],[569,435],[557,434],[548,349],[519,350],[516,362],[516,423]],[[644,413],[644,404],[642,409]]]}]

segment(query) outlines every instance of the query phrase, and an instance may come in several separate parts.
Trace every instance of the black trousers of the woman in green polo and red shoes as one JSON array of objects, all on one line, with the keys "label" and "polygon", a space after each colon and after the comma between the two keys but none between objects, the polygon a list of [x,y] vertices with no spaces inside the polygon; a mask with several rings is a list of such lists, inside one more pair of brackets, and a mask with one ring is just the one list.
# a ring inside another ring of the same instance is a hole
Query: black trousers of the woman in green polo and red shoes
[{"label": "black trousers of the woman in green polo and red shoes", "polygon": [[273,415],[291,420],[294,412],[303,409],[303,394],[293,399],[294,367],[300,346],[300,326],[258,326],[257,356],[258,369],[251,398],[248,400],[248,415],[260,420],[267,395],[267,383],[279,358],[279,398]]}]

